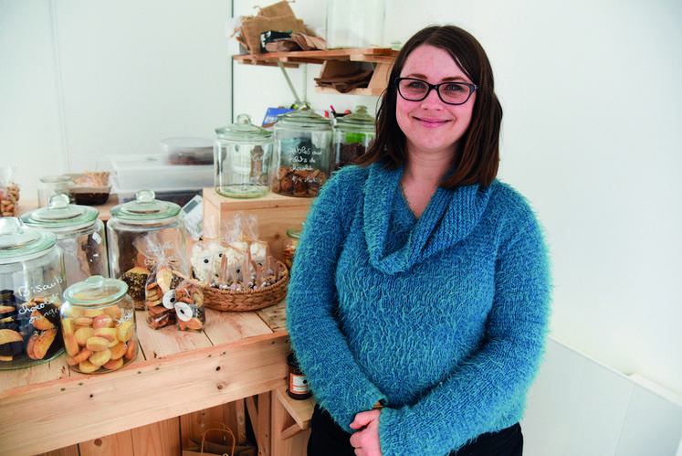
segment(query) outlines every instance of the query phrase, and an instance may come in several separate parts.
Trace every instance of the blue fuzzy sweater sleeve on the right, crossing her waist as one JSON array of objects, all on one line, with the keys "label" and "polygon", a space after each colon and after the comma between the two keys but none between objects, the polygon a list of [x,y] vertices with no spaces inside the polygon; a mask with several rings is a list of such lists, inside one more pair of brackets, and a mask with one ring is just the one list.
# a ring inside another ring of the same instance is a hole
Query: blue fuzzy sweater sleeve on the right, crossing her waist
[{"label": "blue fuzzy sweater sleeve on the right, crossing her waist", "polygon": [[520,418],[544,349],[551,285],[538,222],[524,201],[517,204],[516,219],[501,230],[483,344],[413,406],[383,408],[384,455],[447,454]]}]

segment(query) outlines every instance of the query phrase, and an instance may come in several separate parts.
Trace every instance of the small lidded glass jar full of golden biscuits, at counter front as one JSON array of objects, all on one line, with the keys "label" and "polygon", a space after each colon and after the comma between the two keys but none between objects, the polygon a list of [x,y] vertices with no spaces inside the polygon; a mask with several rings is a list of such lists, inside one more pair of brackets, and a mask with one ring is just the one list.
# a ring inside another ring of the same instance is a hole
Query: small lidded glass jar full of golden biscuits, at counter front
[{"label": "small lidded glass jar full of golden biscuits, at counter front", "polygon": [[96,275],[68,287],[61,317],[67,364],[81,374],[103,374],[137,355],[135,308],[123,281]]}]

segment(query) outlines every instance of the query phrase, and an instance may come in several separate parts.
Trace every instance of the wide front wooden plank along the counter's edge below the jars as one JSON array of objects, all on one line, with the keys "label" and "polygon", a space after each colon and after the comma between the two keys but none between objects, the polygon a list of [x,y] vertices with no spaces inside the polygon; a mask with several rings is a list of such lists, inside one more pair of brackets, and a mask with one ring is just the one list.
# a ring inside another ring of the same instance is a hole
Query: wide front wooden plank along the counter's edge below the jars
[{"label": "wide front wooden plank along the counter's edge below the jars", "polygon": [[0,413],[13,419],[0,427],[0,441],[7,454],[34,454],[264,393],[287,377],[288,354],[286,333],[267,334],[5,390]]}]

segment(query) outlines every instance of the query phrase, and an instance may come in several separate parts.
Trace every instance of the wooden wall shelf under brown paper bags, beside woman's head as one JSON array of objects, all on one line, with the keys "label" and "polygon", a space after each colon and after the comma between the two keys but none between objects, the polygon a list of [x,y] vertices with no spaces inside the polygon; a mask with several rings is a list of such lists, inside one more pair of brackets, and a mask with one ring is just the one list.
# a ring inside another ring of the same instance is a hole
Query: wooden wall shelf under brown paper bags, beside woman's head
[{"label": "wooden wall shelf under brown paper bags, beside woman's head", "polygon": [[[330,74],[351,74],[362,63],[372,63],[374,72],[372,80],[366,88],[359,88],[347,92],[353,95],[379,96],[386,88],[388,76],[393,68],[393,62],[398,55],[392,48],[343,48],[331,50],[308,50],[292,52],[268,52],[265,54],[245,54],[234,56],[238,63],[279,66],[280,68],[298,68],[300,64],[322,65],[320,77]],[[329,88],[316,87],[320,93],[339,93]]]}]

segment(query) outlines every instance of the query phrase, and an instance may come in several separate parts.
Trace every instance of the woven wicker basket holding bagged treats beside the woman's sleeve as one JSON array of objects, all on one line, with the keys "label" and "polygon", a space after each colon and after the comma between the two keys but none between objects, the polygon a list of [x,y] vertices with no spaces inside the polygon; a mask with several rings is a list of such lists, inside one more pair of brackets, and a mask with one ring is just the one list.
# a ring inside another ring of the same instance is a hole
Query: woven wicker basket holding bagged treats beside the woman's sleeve
[{"label": "woven wicker basket holding bagged treats beside the woman's sleeve", "polygon": [[278,260],[277,264],[281,270],[279,281],[259,290],[229,291],[202,283],[204,305],[218,311],[245,312],[277,304],[287,296],[289,284],[289,270],[281,261]]}]

